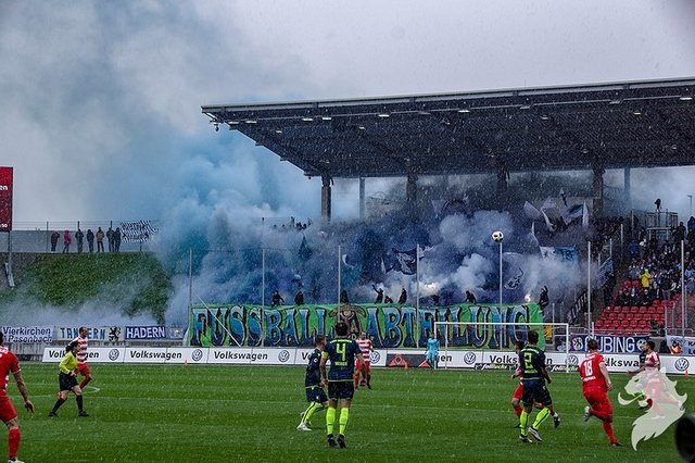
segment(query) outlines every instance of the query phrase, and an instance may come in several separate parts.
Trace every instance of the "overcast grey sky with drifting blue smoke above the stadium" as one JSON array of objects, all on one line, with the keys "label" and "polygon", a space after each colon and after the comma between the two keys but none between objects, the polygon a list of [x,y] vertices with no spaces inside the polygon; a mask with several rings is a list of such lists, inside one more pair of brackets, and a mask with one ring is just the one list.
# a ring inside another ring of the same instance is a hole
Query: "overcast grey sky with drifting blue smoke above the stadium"
[{"label": "overcast grey sky with drifting blue smoke above the stadium", "polygon": [[[695,76],[690,0],[336,3],[0,2],[15,222],[319,215],[318,179],[215,133],[202,104]],[[687,212],[680,172],[645,197]]]}]

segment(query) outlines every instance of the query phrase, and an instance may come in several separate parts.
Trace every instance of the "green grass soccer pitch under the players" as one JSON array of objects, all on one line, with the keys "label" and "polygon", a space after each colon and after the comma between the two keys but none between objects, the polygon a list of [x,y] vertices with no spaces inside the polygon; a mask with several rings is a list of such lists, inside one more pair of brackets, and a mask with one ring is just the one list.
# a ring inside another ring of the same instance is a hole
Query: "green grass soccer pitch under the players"
[{"label": "green grass soccer pitch under the players", "polygon": [[[610,395],[615,427],[626,447],[610,448],[598,421],[582,422],[577,374],[553,375],[560,427],[548,420],[543,442],[522,445],[509,372],[375,370],[374,389],[356,392],[348,449],[333,449],[326,443],[325,413],[312,420],[314,431],[295,429],[306,406],[301,367],[93,365],[87,418],[76,417],[74,396],[58,418],[48,418],[58,366],[22,367],[37,406],[35,415],[20,411],[18,456],[27,462],[680,461],[674,426],[632,449],[631,426],[641,412],[619,405],[617,391]],[[621,390],[627,377],[612,378]],[[678,390],[695,398],[695,381],[678,379]],[[12,381],[9,390],[20,405]],[[695,410],[691,400],[686,410]],[[7,454],[7,439],[0,440]]]}]

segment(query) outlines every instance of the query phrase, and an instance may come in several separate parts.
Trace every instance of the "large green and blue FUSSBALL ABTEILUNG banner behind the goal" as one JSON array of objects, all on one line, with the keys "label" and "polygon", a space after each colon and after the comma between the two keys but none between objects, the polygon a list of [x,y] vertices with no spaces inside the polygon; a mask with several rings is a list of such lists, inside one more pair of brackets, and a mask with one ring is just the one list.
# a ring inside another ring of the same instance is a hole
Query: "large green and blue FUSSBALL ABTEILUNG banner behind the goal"
[{"label": "large green and blue FUSSBALL ABTEILUNG banner behind the goal", "polygon": [[[200,347],[312,347],[315,335],[331,337],[344,321],[354,336],[364,330],[375,348],[422,348],[434,322],[460,324],[440,327],[440,345],[451,348],[514,349],[528,329],[542,330],[536,303],[420,306],[391,304],[327,304],[261,308],[260,305],[193,305],[186,340]],[[475,323],[535,325],[491,326]],[[515,333],[516,331],[516,333]],[[541,348],[544,348],[541,336]]]}]

